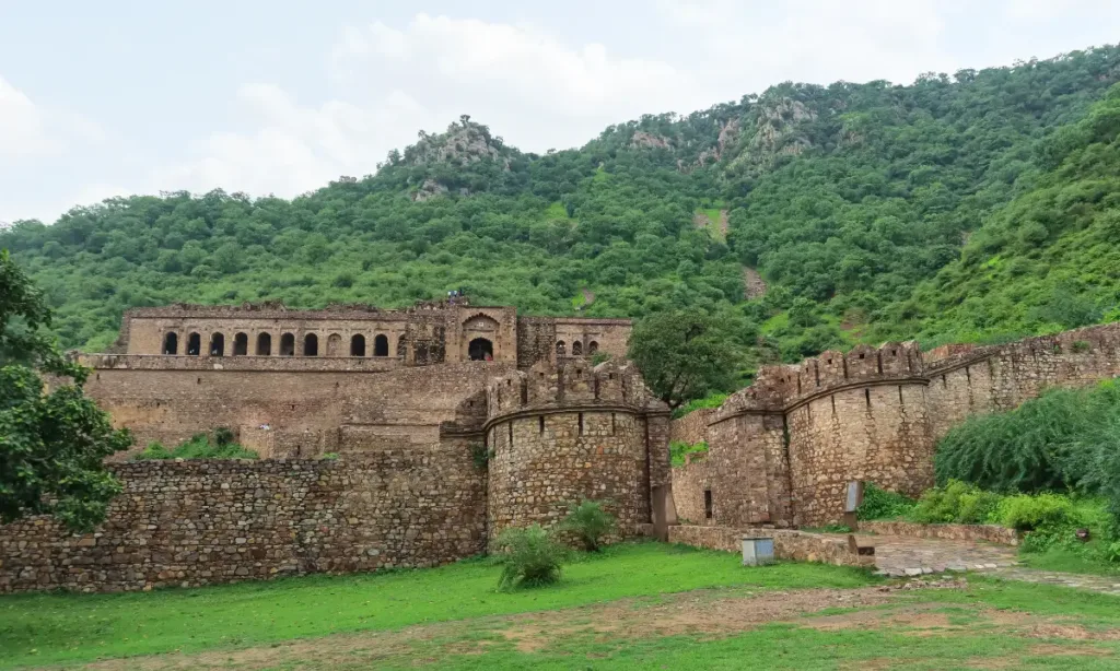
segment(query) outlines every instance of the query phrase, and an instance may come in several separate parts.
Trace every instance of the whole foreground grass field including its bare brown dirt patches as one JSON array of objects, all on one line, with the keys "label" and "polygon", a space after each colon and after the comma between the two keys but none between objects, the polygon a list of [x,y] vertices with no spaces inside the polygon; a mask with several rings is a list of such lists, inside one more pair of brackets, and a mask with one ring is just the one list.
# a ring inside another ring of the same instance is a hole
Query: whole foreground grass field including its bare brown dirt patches
[{"label": "whole foreground grass field including its bare brown dirt patches", "polygon": [[856,569],[745,568],[661,544],[560,584],[498,569],[312,576],[118,595],[0,597],[0,667],[99,669],[1116,669],[1120,598],[972,579],[887,590]]}]

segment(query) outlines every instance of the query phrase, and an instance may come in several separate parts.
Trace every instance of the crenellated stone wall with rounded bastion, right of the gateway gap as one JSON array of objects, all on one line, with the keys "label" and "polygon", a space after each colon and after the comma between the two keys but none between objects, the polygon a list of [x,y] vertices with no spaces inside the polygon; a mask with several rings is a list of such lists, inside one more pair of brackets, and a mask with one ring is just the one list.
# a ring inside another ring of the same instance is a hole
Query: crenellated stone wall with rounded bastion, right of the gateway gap
[{"label": "crenellated stone wall with rounded bastion, right of the gateway gap", "polygon": [[925,353],[857,347],[765,367],[717,410],[673,427],[674,440],[709,445],[673,469],[676,512],[730,528],[838,521],[850,481],[909,495],[932,486],[934,446],[967,416],[1117,375],[1120,324]]}]

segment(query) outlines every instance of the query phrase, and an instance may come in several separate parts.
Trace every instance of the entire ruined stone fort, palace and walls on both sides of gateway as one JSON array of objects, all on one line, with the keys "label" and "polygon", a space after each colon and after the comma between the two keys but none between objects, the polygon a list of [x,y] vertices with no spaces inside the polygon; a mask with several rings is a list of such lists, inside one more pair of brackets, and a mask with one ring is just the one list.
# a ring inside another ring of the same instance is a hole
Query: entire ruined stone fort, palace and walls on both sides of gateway
[{"label": "entire ruined stone fort, palace and walls on both sides of gateway", "polygon": [[[624,358],[629,329],[461,299],[131,310],[110,352],[81,359],[134,450],[227,427],[262,459],[119,455],[124,492],[93,533],[45,517],[0,527],[0,590],[432,566],[584,498],[605,501],[623,537],[678,517],[684,539],[818,526],[841,517],[849,481],[932,485],[937,438],[968,415],[1120,374],[1120,324],[887,343],[764,367],[721,407],[670,420]],[[709,451],[671,467],[671,440]]]}]

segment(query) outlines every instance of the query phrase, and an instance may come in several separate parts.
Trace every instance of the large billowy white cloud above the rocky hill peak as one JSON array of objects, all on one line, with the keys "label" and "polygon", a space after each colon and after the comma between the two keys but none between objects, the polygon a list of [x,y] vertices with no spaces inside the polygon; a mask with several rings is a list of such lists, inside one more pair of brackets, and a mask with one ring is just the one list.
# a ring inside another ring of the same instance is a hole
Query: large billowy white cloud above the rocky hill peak
[{"label": "large billowy white cloud above the rocky hill peak", "polygon": [[522,149],[572,147],[672,108],[694,88],[660,60],[566,44],[529,25],[424,13],[398,28],[344,28],[326,63],[336,97],[311,106],[274,84],[242,86],[239,108],[255,130],[212,134],[159,177],[161,188],[292,196],[373,172],[419,130],[442,131],[464,113]]}]

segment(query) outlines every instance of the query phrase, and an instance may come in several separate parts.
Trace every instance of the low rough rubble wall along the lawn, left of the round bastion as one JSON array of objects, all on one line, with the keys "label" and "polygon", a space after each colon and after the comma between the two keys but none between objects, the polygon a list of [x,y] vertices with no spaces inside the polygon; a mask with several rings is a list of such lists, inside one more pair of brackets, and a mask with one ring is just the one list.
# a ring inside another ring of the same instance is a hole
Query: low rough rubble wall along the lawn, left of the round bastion
[{"label": "low rough rubble wall along the lawn, left of the round bastion", "polygon": [[136,462],[93,533],[0,527],[0,592],[137,590],[433,566],[485,548],[486,478],[465,442],[353,461]]}]

